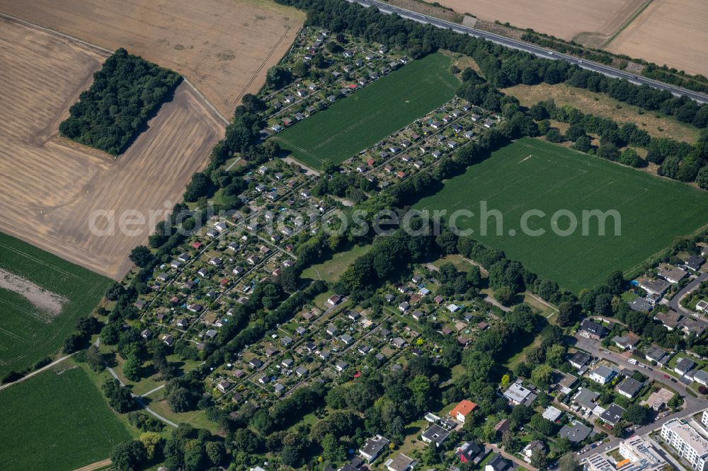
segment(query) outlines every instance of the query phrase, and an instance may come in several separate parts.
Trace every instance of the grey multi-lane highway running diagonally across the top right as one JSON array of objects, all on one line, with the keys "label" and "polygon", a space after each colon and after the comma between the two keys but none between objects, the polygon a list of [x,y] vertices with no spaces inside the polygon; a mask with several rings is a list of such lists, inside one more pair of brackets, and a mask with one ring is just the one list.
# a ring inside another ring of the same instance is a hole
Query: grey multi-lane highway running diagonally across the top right
[{"label": "grey multi-lane highway running diagonally across the top right", "polygon": [[587,61],[586,59],[578,59],[568,54],[561,54],[560,52],[555,52],[548,50],[544,47],[540,47],[530,42],[515,40],[510,37],[505,37],[501,35],[496,35],[494,33],[489,33],[487,31],[478,30],[476,28],[470,28],[469,26],[463,26],[458,23],[452,23],[450,21],[440,20],[439,18],[434,18],[433,16],[424,15],[423,13],[417,13],[416,11],[407,10],[406,8],[401,8],[399,6],[394,6],[387,4],[384,1],[379,0],[347,0],[350,3],[358,3],[362,6],[375,6],[382,13],[396,13],[401,18],[408,18],[409,20],[417,21],[418,23],[430,24],[437,26],[438,28],[452,29],[457,33],[468,34],[475,37],[480,37],[491,42],[496,42],[497,44],[504,45],[506,47],[511,47],[513,49],[518,49],[531,54],[535,54],[539,57],[544,57],[545,59],[560,59],[571,64],[576,64],[583,69],[588,69],[591,71],[599,72],[608,77],[615,77],[617,79],[624,79],[630,81],[636,85],[648,85],[651,88],[657,88],[658,90],[665,90],[676,96],[685,96],[696,100],[698,103],[708,103],[708,95],[704,93],[698,93],[695,91],[687,90],[686,88],[681,88],[678,86],[670,85],[670,83],[664,83],[658,80],[648,79],[641,75],[630,74],[627,71],[622,71],[615,69],[605,64],[599,64],[598,62]]}]

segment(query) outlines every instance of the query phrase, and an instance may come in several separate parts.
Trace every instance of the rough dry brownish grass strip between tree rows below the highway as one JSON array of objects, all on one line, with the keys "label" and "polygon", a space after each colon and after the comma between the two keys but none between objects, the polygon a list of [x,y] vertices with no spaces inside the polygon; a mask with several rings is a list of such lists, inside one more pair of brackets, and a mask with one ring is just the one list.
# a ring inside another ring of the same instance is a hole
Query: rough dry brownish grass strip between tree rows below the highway
[{"label": "rough dry brownish grass strip between tree rows below the highway", "polygon": [[655,112],[639,114],[639,107],[621,103],[604,93],[595,93],[584,88],[576,88],[565,83],[549,85],[516,85],[501,90],[507,95],[519,99],[522,105],[531,106],[542,100],[553,98],[556,105],[571,105],[585,113],[612,118],[617,122],[633,122],[654,137],[668,137],[677,141],[694,143],[699,130],[691,124],[685,124],[673,117],[656,117]]}]

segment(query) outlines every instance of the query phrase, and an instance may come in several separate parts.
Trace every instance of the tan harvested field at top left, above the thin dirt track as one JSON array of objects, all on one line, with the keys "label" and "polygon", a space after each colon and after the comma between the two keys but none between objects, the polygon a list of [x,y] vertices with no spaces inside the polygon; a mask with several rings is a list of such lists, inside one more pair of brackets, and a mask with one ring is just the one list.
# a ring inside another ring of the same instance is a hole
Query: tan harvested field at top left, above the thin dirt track
[{"label": "tan harvested field at top left, above the thin dirt track", "polygon": [[0,11],[178,71],[229,118],[285,55],[304,13],[268,0],[0,0]]}]

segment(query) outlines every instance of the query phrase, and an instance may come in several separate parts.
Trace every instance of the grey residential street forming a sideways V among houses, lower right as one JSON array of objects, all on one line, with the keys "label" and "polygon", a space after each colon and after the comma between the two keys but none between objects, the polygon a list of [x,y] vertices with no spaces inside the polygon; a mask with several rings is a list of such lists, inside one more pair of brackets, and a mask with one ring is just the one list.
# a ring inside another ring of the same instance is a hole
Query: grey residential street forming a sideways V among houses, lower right
[{"label": "grey residential street forming a sideways V among houses, lower right", "polygon": [[[690,417],[696,412],[700,412],[706,407],[708,407],[708,403],[705,402],[704,400],[699,400],[696,397],[693,397],[692,395],[687,394],[686,392],[686,385],[683,383],[670,383],[666,380],[666,378],[663,377],[663,374],[661,371],[658,369],[653,369],[653,371],[647,371],[646,368],[636,368],[634,365],[627,363],[627,359],[624,358],[624,356],[615,353],[614,351],[610,350],[605,350],[598,342],[595,342],[595,340],[591,339],[586,339],[585,337],[578,337],[578,343],[576,344],[576,347],[583,349],[585,351],[588,351],[590,354],[593,354],[594,356],[599,356],[600,358],[613,361],[622,368],[629,368],[630,370],[633,371],[639,371],[640,373],[643,373],[646,376],[649,376],[649,378],[656,380],[660,383],[666,383],[670,386],[670,388],[677,390],[680,395],[683,396],[684,399],[684,408],[683,410],[676,412],[675,414],[669,414],[667,417],[662,417],[663,414],[660,414],[659,419],[656,422],[652,422],[649,425],[639,427],[639,429],[636,429],[632,433],[632,435],[644,435],[644,434],[649,434],[649,432],[653,431],[654,429],[659,429],[661,426],[669,421],[670,419],[675,419],[677,417]],[[600,349],[603,349],[603,351],[600,351]],[[629,435],[628,435],[629,436]],[[606,446],[611,446],[612,448],[616,448],[619,446],[619,442],[622,441],[622,438],[614,438],[611,437],[610,443],[603,443],[603,446],[600,446],[598,448],[594,448],[592,450],[589,450],[586,453],[583,453],[580,455],[579,458],[587,458],[590,455],[594,455],[595,453],[600,453],[605,451]]]}]

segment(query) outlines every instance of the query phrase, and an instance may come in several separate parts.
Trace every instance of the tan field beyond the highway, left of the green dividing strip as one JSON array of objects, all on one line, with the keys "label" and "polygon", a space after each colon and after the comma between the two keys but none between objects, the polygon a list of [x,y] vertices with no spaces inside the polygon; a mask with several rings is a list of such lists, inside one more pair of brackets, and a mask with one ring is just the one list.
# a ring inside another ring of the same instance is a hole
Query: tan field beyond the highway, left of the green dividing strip
[{"label": "tan field beyond the highway, left of the green dividing strip", "polygon": [[438,0],[460,13],[571,40],[610,35],[644,0]]}]

